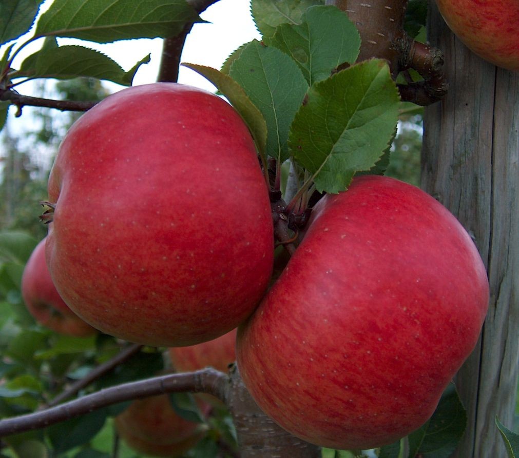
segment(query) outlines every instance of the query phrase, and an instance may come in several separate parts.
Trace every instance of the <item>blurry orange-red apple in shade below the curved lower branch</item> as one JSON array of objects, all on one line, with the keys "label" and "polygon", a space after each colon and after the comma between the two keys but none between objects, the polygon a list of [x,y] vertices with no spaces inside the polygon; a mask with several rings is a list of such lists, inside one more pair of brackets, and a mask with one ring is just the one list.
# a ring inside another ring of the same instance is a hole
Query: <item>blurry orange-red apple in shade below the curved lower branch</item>
[{"label": "blurry orange-red apple in shade below the curved lower branch", "polygon": [[[209,406],[199,401],[202,413]],[[182,456],[205,435],[207,426],[184,420],[171,407],[168,395],[133,401],[115,418],[118,434],[135,451],[152,456]]]}]

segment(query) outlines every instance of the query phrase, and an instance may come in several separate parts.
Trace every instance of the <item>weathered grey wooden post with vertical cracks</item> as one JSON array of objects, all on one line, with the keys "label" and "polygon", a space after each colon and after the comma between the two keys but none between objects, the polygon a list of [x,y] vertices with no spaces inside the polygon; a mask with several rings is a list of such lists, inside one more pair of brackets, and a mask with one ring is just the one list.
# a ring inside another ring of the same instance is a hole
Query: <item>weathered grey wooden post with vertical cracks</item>
[{"label": "weathered grey wooden post with vertical cracks", "polygon": [[450,86],[426,108],[421,184],[472,234],[490,282],[482,336],[456,377],[468,426],[455,456],[501,457],[495,417],[513,427],[518,372],[519,73],[470,52],[430,6],[429,40]]}]

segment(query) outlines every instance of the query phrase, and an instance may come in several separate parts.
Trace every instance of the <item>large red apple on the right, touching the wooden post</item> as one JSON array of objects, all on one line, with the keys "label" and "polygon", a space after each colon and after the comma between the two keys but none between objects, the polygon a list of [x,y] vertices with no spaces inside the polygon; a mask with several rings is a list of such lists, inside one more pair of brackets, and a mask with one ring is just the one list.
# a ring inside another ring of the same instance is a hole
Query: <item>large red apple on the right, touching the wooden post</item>
[{"label": "large red apple on the right, touching the wooden post", "polygon": [[354,178],[315,206],[278,282],[238,329],[237,363],[281,427],[370,449],[432,415],[471,353],[488,282],[467,232],[420,189]]}]

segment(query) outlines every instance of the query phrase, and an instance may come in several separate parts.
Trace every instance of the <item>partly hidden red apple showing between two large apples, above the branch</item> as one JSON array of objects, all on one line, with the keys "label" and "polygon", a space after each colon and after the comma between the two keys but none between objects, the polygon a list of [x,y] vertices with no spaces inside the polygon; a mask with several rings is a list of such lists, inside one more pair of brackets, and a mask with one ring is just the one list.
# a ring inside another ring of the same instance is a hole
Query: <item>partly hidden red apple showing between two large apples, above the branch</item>
[{"label": "partly hidden red apple showing between two large apples, above the branch", "polygon": [[204,367],[214,367],[227,372],[236,360],[236,332],[233,329],[217,339],[191,346],[168,349],[174,368],[178,372],[192,372]]}]

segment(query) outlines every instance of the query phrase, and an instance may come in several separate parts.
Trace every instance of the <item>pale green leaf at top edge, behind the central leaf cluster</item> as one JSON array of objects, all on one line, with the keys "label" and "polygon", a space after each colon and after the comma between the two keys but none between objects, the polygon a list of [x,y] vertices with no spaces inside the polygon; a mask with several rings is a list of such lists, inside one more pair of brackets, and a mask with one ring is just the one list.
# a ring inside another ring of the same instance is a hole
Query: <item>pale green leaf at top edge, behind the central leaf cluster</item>
[{"label": "pale green leaf at top edge, behind the central leaf cluster", "polygon": [[323,5],[324,0],[252,0],[251,11],[257,29],[264,36],[274,35],[280,24],[301,24],[301,16],[312,5]]}]

